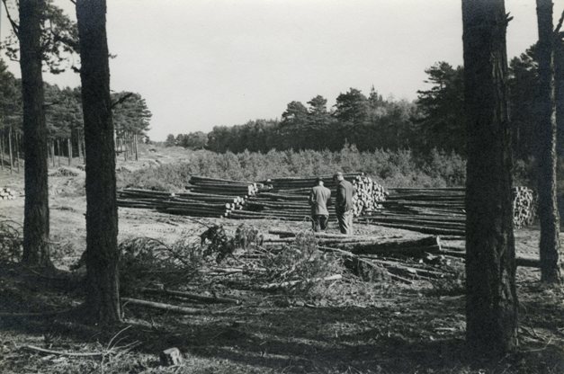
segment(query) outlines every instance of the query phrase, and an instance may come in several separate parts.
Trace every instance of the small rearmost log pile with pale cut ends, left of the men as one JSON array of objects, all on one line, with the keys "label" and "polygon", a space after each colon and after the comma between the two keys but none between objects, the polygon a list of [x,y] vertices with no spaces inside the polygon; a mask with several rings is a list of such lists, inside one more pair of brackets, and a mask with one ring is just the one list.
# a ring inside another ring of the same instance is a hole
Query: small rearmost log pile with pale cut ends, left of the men
[{"label": "small rearmost log pile with pale cut ends, left of the men", "polygon": [[186,189],[192,192],[242,196],[244,198],[255,196],[259,191],[269,190],[263,183],[230,181],[197,175],[192,175],[189,183],[190,185],[186,186]]}]

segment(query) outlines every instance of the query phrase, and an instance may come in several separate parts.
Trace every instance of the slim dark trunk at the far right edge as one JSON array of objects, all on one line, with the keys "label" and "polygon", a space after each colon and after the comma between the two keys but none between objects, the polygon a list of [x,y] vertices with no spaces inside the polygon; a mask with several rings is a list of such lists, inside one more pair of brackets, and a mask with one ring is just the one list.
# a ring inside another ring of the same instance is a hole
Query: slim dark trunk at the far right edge
[{"label": "slim dark trunk at the far right edge", "polygon": [[560,283],[560,217],[556,200],[556,91],[552,31],[552,1],[537,0],[541,100],[537,121],[539,158],[539,220],[541,222],[541,280]]}]

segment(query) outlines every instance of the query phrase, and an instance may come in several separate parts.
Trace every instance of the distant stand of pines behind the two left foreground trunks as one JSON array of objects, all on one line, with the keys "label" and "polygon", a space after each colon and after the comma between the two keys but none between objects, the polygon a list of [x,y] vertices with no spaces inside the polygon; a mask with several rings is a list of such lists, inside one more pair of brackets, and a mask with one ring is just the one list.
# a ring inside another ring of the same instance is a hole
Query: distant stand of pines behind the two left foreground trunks
[{"label": "distant stand of pines behind the two left foreground trunks", "polygon": [[[81,88],[60,88],[43,83],[49,163],[55,157],[85,157]],[[137,143],[147,138],[151,111],[140,94],[112,94],[115,142],[118,153],[134,158]],[[22,80],[16,79],[0,59],[0,165],[19,167],[22,158]],[[5,157],[5,160],[4,160]]]}]

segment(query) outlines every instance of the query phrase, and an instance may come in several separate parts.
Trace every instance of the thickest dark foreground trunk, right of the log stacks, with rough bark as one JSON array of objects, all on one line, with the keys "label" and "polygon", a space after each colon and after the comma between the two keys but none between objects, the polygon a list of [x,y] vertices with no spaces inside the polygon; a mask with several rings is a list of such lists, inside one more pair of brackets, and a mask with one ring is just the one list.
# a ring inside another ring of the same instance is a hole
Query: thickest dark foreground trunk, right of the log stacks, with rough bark
[{"label": "thickest dark foreground trunk, right of the log stacks, with rough bark", "polygon": [[507,18],[503,0],[462,0],[466,181],[466,339],[478,355],[517,343]]}]

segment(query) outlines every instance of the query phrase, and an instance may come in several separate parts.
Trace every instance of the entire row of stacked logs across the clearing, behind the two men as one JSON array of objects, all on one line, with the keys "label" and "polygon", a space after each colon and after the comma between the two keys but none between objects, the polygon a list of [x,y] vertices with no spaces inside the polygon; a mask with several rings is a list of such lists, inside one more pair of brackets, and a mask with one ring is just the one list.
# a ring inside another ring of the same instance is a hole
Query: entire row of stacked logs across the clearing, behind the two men
[{"label": "entire row of stacked logs across the clearing, behind the two men", "polygon": [[[464,188],[394,188],[388,192],[363,174],[344,176],[357,191],[354,216],[359,222],[431,235],[465,236]],[[335,201],[336,183],[331,176],[322,179]],[[118,205],[194,217],[309,220],[309,191],[315,181],[315,177],[288,177],[251,183],[192,176],[189,191],[127,189],[119,191]],[[533,191],[515,187],[513,194],[515,227],[531,225],[536,213]],[[329,211],[329,218],[335,220],[334,209]]]}]

